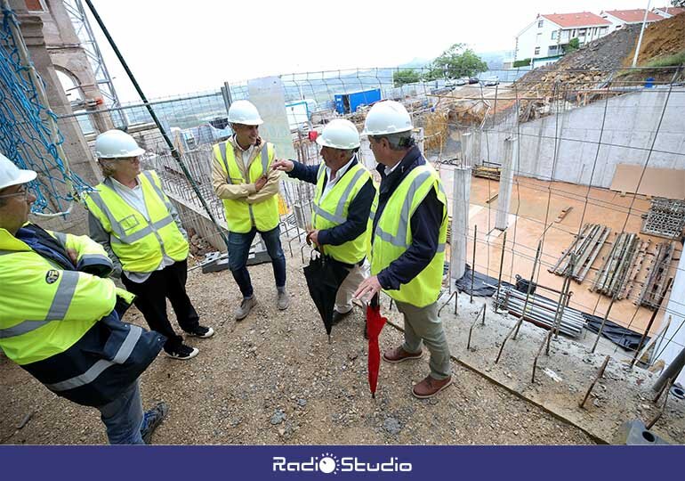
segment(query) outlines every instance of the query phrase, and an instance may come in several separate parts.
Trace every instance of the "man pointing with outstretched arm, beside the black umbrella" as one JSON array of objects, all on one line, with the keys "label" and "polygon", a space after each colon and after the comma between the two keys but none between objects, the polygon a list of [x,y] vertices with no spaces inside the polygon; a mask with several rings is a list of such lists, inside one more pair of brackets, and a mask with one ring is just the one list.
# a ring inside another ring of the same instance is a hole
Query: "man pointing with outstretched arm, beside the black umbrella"
[{"label": "man pointing with outstretched arm, beside the black umbrella", "polygon": [[352,294],[368,278],[368,216],[375,197],[374,181],[357,158],[359,132],[349,120],[331,120],[317,137],[324,162],[305,166],[278,160],[274,169],[314,183],[312,227],[308,237],[326,256],[344,265],[349,273],[335,297],[333,323],[352,311]]}]

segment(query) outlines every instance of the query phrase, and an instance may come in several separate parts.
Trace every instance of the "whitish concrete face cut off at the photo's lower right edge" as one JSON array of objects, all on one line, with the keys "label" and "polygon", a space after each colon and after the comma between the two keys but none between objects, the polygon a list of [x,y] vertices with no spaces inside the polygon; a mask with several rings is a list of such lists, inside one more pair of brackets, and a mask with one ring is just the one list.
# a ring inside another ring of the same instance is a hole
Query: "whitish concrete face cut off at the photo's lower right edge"
[{"label": "whitish concrete face cut off at the photo's lower right edge", "polygon": [[[673,286],[671,287],[671,295],[668,298],[666,312],[661,321],[661,325],[668,322],[669,316],[671,323],[664,334],[664,338],[657,341],[657,348],[655,349],[654,361],[663,359],[666,366],[673,362],[675,357],[681,352],[682,347],[685,346],[685,305],[682,301],[682,293],[685,292],[685,256],[681,254],[681,260],[678,262],[678,268],[675,271],[675,278],[673,279]],[[659,355],[659,352],[663,352]],[[685,386],[685,369],[681,371],[676,382],[680,382]]]}]

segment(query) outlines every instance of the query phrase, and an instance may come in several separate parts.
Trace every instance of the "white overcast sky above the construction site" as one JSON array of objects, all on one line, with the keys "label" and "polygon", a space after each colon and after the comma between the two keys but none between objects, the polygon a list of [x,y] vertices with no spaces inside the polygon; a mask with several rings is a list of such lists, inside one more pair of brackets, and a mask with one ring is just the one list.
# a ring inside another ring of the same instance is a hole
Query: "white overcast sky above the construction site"
[{"label": "white overcast sky above the construction site", "polygon": [[[537,13],[599,14],[644,8],[647,1],[93,0],[93,4],[143,91],[154,98],[218,90],[224,81],[268,75],[393,67],[434,58],[456,42],[477,52],[513,50],[516,34]],[[125,102],[138,100],[92,23],[119,96]]]}]

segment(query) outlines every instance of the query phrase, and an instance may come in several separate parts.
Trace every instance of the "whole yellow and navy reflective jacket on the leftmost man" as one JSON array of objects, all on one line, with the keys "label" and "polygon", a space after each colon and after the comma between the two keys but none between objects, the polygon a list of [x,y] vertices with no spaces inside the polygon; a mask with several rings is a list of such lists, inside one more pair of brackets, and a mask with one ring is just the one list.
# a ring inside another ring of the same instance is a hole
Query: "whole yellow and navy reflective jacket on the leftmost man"
[{"label": "whole yellow and navy reflective jacket on the leftmost man", "polygon": [[133,294],[109,278],[77,270],[111,271],[100,244],[33,224],[22,229],[52,237],[47,240],[63,252],[73,249],[76,268],[0,229],[0,347],[57,395],[107,404],[140,376],[165,338],[119,321],[117,296],[131,303]]}]

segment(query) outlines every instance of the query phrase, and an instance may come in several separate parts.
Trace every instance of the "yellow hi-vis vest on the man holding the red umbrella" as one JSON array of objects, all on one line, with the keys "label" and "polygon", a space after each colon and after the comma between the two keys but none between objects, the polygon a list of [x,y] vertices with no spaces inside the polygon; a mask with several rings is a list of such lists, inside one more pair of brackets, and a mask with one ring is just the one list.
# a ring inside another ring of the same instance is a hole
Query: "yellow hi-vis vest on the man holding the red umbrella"
[{"label": "yellow hi-vis vest on the man holding the red umbrella", "polygon": [[[371,246],[371,274],[376,275],[411,246],[411,217],[431,189],[435,189],[438,200],[443,204],[438,250],[429,265],[412,281],[402,284],[398,290],[385,291],[391,298],[416,307],[429,306],[438,300],[447,242],[447,195],[438,173],[429,164],[415,167],[392,192],[376,224]],[[372,228],[377,206],[378,193],[371,208],[369,222]]]}]

